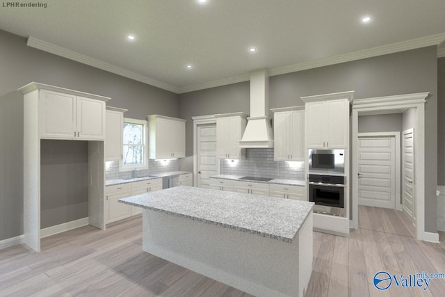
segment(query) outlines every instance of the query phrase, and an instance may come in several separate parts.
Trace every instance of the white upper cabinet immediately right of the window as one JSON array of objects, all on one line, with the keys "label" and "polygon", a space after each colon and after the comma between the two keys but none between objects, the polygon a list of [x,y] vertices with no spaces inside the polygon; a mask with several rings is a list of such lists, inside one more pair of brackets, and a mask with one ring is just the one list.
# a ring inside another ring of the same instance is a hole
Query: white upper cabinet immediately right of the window
[{"label": "white upper cabinet immediately right of the window", "polygon": [[186,156],[186,120],[163,115],[147,115],[149,159],[175,159]]}]

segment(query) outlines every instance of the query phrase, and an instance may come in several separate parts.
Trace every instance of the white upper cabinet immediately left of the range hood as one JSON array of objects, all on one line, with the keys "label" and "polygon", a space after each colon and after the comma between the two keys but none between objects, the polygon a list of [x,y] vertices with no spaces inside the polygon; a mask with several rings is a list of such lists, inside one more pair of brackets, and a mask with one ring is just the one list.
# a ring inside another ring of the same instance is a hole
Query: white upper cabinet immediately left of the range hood
[{"label": "white upper cabinet immediately left of the range hood", "polygon": [[216,115],[216,157],[242,159],[244,150],[239,147],[247,124],[245,113]]}]

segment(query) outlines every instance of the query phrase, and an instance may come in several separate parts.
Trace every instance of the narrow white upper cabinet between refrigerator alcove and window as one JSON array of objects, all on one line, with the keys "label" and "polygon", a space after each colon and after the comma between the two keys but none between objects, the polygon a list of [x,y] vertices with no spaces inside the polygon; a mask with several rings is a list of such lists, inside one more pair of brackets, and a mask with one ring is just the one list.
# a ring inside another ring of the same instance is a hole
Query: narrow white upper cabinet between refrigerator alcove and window
[{"label": "narrow white upper cabinet between refrigerator alcove and window", "polygon": [[118,109],[106,106],[106,136],[105,158],[106,161],[120,161],[123,150],[124,112],[127,109]]}]

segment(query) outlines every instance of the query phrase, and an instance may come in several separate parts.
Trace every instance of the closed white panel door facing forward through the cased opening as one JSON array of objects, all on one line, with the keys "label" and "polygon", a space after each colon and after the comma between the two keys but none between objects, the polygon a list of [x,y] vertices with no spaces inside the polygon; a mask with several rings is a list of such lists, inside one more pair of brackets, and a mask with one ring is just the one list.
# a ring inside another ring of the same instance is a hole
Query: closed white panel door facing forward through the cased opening
[{"label": "closed white panel door facing forward through the cased opening", "polygon": [[359,137],[359,205],[396,208],[394,137]]}]

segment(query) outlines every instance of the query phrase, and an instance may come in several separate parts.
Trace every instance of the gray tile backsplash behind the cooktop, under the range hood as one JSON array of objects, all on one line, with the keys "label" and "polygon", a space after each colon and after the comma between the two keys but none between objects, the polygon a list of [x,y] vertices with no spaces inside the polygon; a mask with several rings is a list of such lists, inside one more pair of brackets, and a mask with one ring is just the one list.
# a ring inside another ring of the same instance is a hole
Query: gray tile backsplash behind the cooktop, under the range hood
[{"label": "gray tile backsplash behind the cooktop, under the range hood", "polygon": [[305,180],[305,162],[273,161],[273,149],[246,149],[244,160],[221,160],[222,175]]}]

